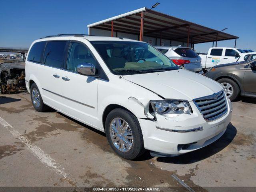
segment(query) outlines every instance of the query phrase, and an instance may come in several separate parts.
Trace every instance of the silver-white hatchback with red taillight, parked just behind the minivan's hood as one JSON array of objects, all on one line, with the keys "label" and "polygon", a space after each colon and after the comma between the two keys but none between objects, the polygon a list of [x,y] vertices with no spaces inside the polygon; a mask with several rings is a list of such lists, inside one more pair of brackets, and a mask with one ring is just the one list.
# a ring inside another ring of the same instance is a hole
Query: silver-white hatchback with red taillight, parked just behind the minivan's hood
[{"label": "silver-white hatchback with red taillight, parked just behind the minivan's hood", "polygon": [[190,47],[181,46],[155,46],[164,53],[172,62],[184,67],[186,70],[204,74],[201,64],[201,58]]}]

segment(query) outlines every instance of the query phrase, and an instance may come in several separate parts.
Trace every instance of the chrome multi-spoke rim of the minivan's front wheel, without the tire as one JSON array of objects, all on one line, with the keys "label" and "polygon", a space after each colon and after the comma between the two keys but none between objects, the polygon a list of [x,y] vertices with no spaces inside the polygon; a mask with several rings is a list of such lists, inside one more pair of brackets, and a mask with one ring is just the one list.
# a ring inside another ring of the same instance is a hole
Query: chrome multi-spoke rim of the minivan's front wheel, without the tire
[{"label": "chrome multi-spoke rim of the minivan's front wheel, without the tire", "polygon": [[132,130],[125,120],[114,118],[110,123],[109,130],[111,140],[118,150],[127,152],[132,148]]}]

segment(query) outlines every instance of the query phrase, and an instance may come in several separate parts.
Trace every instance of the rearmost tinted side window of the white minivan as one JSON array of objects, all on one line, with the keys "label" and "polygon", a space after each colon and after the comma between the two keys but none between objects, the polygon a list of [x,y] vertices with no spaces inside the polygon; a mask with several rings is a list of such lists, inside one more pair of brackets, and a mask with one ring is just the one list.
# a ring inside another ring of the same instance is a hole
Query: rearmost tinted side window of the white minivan
[{"label": "rearmost tinted side window of the white minivan", "polygon": [[30,49],[30,52],[28,54],[28,60],[42,63],[42,56],[43,56],[45,44],[46,44],[45,41],[35,43]]}]

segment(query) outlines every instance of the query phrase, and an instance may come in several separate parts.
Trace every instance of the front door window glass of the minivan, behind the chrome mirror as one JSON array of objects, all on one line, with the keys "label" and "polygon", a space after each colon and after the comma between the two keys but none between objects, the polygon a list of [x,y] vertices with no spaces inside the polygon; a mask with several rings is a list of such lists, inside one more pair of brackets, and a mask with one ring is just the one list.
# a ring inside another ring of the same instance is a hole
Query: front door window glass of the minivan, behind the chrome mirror
[{"label": "front door window glass of the minivan, behind the chrome mirror", "polygon": [[78,64],[91,63],[97,66],[92,53],[84,45],[72,42],[68,53],[67,70],[77,72]]}]

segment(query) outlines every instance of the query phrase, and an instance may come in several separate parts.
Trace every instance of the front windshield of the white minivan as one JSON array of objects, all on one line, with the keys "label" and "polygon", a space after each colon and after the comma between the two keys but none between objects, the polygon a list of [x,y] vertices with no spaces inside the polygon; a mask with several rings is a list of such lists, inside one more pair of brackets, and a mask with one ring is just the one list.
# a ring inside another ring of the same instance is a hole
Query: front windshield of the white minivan
[{"label": "front windshield of the white minivan", "polygon": [[176,70],[162,52],[144,42],[92,41],[108,68],[117,75]]}]

